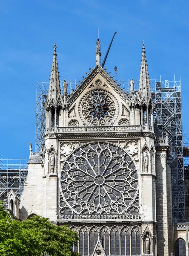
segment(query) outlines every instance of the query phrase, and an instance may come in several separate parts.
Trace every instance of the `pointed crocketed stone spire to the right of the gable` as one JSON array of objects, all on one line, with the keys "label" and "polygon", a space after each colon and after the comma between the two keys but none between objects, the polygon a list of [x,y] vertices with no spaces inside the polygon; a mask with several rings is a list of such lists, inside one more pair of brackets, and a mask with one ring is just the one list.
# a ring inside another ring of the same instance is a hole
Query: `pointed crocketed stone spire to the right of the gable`
[{"label": "pointed crocketed stone spire to the right of the gable", "polygon": [[145,44],[143,41],[143,48],[142,48],[142,59],[140,65],[140,79],[139,79],[139,93],[141,98],[146,99],[146,103],[148,103],[149,99],[151,98],[151,91],[150,91],[150,82],[149,82],[149,73],[148,73],[148,64],[146,60],[146,52],[145,52]]}]

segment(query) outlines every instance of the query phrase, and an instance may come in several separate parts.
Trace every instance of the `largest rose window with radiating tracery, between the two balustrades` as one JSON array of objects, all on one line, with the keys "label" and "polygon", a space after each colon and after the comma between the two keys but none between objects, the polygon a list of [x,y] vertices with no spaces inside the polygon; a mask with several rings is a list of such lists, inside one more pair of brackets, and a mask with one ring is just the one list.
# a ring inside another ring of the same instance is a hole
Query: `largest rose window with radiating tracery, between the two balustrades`
[{"label": "largest rose window with radiating tracery, between the two balustrades", "polygon": [[94,142],[74,149],[60,172],[60,214],[137,213],[138,176],[125,149]]}]

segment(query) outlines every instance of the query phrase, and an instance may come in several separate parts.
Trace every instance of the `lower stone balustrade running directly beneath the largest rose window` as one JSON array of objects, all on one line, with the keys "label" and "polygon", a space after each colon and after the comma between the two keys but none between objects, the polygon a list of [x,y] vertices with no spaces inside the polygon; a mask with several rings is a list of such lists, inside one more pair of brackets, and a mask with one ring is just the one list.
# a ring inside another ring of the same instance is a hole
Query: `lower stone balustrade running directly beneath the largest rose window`
[{"label": "lower stone balustrade running directly beneath the largest rose window", "polygon": [[142,214],[61,214],[59,221],[138,221],[142,219]]}]

